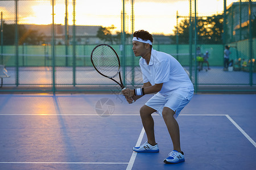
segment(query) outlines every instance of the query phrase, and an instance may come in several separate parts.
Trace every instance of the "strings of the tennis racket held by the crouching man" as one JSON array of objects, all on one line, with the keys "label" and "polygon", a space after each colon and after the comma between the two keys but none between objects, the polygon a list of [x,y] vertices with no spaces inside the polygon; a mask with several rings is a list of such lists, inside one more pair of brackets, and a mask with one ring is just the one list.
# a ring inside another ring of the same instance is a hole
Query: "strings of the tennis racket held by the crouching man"
[{"label": "strings of the tennis racket held by the crouching man", "polygon": [[117,54],[109,46],[101,45],[94,49],[92,54],[94,67],[101,74],[110,78],[115,77],[119,73],[119,60]]}]

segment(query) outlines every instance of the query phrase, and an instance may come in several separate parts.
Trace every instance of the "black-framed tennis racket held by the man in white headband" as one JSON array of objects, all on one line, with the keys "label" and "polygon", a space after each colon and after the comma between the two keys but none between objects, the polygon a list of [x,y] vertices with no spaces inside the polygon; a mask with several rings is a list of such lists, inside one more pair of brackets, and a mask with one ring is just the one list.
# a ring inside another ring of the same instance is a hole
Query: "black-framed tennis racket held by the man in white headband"
[{"label": "black-framed tennis racket held by the man in white headband", "polygon": [[[90,54],[90,60],[98,73],[113,80],[122,90],[125,89],[120,73],[120,60],[112,46],[108,44],[97,45]],[[119,75],[119,82],[114,79],[117,75]]]}]

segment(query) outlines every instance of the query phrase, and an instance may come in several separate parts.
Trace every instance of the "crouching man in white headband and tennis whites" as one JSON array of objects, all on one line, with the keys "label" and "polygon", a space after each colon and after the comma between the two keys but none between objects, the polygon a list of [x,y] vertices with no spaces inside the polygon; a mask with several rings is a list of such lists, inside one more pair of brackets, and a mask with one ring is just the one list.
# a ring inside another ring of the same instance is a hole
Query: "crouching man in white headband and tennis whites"
[{"label": "crouching man in white headband and tennis whites", "polygon": [[133,52],[140,57],[142,70],[142,88],[122,90],[128,103],[136,101],[146,94],[156,93],[140,109],[141,120],[146,131],[147,142],[134,147],[135,152],[159,152],[155,141],[154,120],[151,116],[156,112],[163,117],[172,139],[174,150],[170,152],[164,163],[183,162],[184,153],[180,147],[180,132],[176,118],[193,96],[193,84],[180,63],[170,54],[158,52],[152,48],[153,37],[144,30],[133,34]]}]

